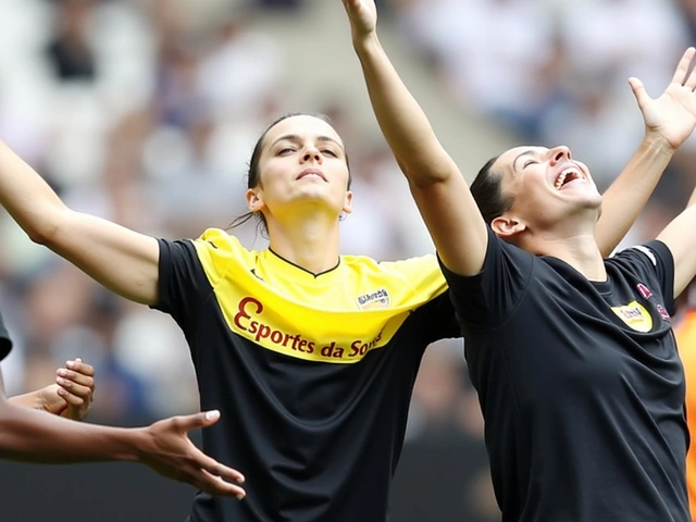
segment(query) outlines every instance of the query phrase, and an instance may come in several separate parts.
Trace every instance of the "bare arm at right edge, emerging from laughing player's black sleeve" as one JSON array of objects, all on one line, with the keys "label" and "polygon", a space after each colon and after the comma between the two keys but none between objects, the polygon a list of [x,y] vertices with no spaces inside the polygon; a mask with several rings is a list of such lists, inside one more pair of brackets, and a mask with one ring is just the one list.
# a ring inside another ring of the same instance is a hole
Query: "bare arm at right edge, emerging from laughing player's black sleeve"
[{"label": "bare arm at right edge, emerging from laughing player's black sleeve", "polygon": [[674,298],[696,277],[696,188],[688,204],[657,237],[674,258]]}]

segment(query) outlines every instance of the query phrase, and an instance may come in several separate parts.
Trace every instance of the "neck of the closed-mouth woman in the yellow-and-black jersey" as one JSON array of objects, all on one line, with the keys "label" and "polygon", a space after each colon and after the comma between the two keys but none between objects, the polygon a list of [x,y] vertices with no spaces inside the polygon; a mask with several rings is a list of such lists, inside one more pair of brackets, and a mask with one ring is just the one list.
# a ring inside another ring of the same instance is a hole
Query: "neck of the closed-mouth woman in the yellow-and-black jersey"
[{"label": "neck of the closed-mouth woman in the yellow-and-black jersey", "polygon": [[283,259],[312,274],[332,270],[338,263],[338,219],[297,217],[291,221],[266,219],[270,248]]}]

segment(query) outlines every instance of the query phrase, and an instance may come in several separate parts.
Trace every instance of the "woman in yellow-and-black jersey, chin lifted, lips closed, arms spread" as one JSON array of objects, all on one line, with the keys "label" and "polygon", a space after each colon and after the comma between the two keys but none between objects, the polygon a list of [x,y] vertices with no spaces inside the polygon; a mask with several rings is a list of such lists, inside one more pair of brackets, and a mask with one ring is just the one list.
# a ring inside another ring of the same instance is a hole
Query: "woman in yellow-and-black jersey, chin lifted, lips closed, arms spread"
[{"label": "woman in yellow-and-black jersey, chin lifted, lips closed, arms spread", "polygon": [[[679,115],[657,114],[657,146],[610,189],[606,253],[661,175],[673,151],[660,137]],[[75,212],[0,145],[0,202],[28,236],[184,332],[201,406],[222,412],[204,449],[239,469],[247,490],[241,502],[198,494],[191,522],[387,519],[421,357],[459,328],[435,256],[339,256],[349,184],[326,120],[274,122],[253,149],[246,192],[270,246],[251,251],[221,229],[158,239]]]}]

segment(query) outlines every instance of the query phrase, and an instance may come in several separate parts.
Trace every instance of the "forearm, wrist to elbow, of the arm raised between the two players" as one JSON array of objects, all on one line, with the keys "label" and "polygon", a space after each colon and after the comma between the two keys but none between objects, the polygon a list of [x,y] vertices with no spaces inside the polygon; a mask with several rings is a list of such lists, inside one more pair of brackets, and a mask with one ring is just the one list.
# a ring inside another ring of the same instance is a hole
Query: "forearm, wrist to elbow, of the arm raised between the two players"
[{"label": "forearm, wrist to elbow, of the arm raised between the two players", "polygon": [[409,179],[436,183],[455,170],[425,113],[384,52],[376,33],[353,37],[368,94],[382,133]]}]

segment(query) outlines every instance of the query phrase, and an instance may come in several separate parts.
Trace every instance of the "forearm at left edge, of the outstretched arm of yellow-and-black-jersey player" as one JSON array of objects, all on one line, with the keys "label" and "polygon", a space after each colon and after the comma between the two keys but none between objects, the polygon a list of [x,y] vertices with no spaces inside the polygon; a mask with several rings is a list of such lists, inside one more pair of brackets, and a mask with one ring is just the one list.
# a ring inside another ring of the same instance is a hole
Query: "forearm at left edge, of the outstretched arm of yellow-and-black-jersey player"
[{"label": "forearm at left edge, of the outstretched arm of yellow-and-black-jersey player", "polygon": [[67,208],[46,181],[0,140],[0,204],[35,241],[42,243]]}]

